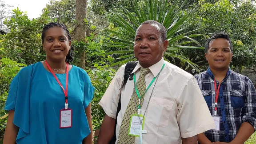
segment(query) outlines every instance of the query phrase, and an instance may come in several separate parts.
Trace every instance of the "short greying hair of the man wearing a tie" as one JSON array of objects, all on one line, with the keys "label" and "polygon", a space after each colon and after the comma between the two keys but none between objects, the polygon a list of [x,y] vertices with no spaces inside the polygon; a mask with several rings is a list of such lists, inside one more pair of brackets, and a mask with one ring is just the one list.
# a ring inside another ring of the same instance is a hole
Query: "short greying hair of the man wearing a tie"
[{"label": "short greying hair of the man wearing a tie", "polygon": [[162,42],[164,42],[164,40],[166,40],[167,32],[166,32],[166,28],[164,27],[163,24],[160,24],[159,22],[157,22],[155,20],[147,20],[147,21],[144,21],[143,23],[141,23],[140,25],[144,25],[144,24],[151,24],[153,27],[156,27],[156,29],[159,31],[159,34],[160,34],[159,38],[162,40]]}]

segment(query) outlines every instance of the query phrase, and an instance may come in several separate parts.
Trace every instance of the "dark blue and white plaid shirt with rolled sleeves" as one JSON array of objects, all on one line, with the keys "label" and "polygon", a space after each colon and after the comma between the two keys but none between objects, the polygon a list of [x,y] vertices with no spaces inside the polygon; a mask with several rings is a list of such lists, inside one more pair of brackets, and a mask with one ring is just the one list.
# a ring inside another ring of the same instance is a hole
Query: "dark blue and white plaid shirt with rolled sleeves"
[{"label": "dark blue and white plaid shirt with rolled sleeves", "polygon": [[[214,116],[214,76],[210,68],[195,76],[208,108]],[[219,82],[216,81],[217,88]],[[208,130],[205,136],[211,142],[231,142],[243,122],[256,130],[256,92],[252,81],[239,73],[228,70],[220,85],[217,102],[217,116],[220,116],[220,131]]]}]

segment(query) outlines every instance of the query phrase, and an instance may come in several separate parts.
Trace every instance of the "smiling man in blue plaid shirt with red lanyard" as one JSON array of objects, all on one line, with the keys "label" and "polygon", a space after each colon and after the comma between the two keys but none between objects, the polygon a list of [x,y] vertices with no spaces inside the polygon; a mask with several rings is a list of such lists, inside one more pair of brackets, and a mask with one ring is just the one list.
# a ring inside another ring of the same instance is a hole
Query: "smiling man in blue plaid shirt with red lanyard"
[{"label": "smiling man in blue plaid shirt with red lanyard", "polygon": [[200,144],[243,144],[256,130],[256,92],[252,81],[232,71],[232,44],[225,33],[205,45],[209,68],[196,75],[216,128],[198,135]]}]

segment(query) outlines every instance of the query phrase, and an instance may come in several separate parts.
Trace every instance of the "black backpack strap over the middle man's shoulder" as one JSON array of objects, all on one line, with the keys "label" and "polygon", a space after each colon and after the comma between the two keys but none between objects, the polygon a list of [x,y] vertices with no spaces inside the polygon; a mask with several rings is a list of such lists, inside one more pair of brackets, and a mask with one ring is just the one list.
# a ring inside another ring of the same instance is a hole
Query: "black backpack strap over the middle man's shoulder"
[{"label": "black backpack strap over the middle man's shoulder", "polygon": [[[126,64],[125,68],[124,68],[124,83],[122,85],[122,87],[120,88],[120,97],[119,97],[119,101],[118,101],[118,105],[117,105],[117,110],[116,110],[116,121],[115,121],[115,129],[114,129],[114,136],[112,138],[112,140],[110,141],[109,144],[115,144],[116,143],[116,124],[117,124],[117,116],[118,113],[120,112],[121,109],[121,89],[124,87],[124,85],[127,83],[127,80],[130,76],[133,76],[132,71],[133,69],[136,67],[138,61],[130,61]],[[131,80],[131,79],[130,79]]]}]

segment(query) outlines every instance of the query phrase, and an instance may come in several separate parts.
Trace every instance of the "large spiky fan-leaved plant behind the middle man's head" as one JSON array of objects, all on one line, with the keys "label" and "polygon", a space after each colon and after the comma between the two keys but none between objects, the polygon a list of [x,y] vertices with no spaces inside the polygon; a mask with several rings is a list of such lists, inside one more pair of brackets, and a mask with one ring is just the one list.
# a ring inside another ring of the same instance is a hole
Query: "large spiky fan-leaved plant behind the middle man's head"
[{"label": "large spiky fan-leaved plant behind the middle man's head", "polygon": [[[126,8],[121,6],[124,12],[127,14],[129,21],[125,20],[122,16],[117,13],[113,13],[110,16],[111,20],[118,24],[121,28],[124,28],[128,31],[127,34],[121,32],[115,32],[110,29],[106,31],[110,32],[109,36],[112,40],[107,44],[108,47],[112,48],[121,48],[121,50],[108,52],[107,54],[127,54],[125,56],[120,56],[117,59],[120,60],[112,65],[124,64],[131,60],[136,60],[133,54],[133,44],[136,29],[146,20],[156,20],[159,23],[163,24],[167,29],[167,40],[169,45],[167,52],[165,52],[165,60],[168,58],[178,58],[183,62],[188,63],[194,69],[196,64],[192,63],[188,58],[177,55],[175,52],[179,51],[182,48],[203,48],[193,37],[202,36],[201,34],[194,34],[196,31],[204,29],[205,27],[197,28],[192,31],[186,31],[191,25],[185,25],[189,20],[192,19],[194,13],[196,13],[197,8],[191,9],[189,12],[182,11],[183,6],[186,4],[187,0],[179,7],[178,4],[181,0],[176,0],[174,4],[168,3],[168,0],[142,0],[140,3],[137,0],[132,0],[135,13],[129,12]],[[186,38],[188,41],[182,41]],[[189,43],[196,43],[198,46],[186,46]],[[130,54],[132,53],[132,54]]]}]

